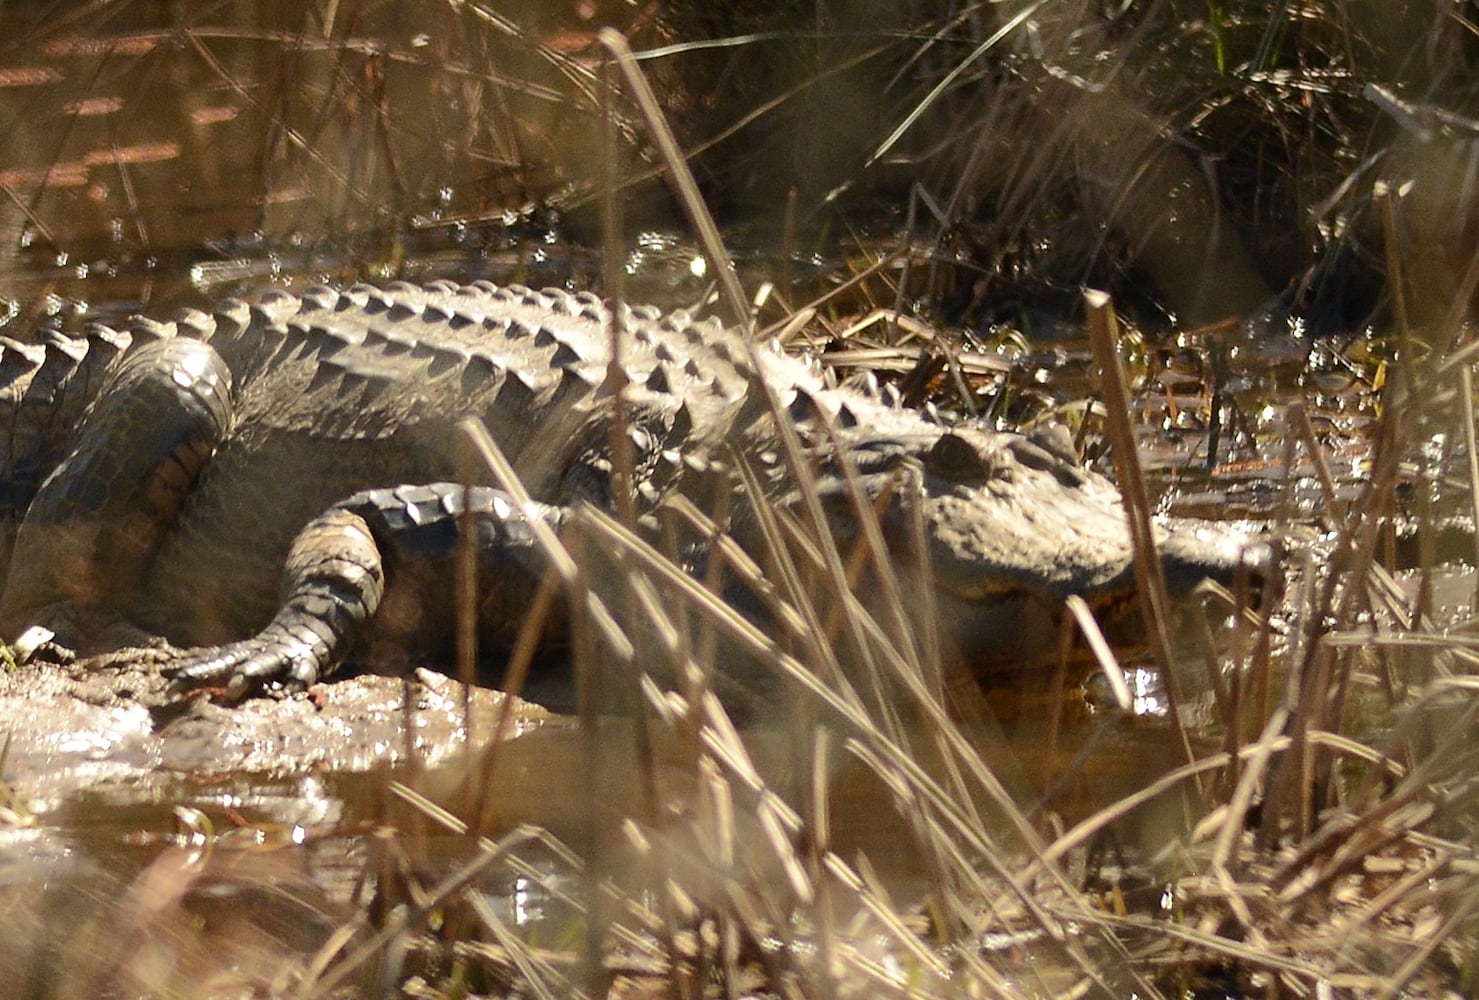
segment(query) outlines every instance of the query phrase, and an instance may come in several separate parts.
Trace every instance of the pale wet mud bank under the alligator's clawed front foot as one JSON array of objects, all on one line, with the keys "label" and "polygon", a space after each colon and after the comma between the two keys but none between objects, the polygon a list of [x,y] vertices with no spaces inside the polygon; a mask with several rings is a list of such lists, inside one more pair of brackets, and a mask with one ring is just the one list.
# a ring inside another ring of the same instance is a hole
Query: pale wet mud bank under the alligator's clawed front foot
[{"label": "pale wet mud bank under the alligator's clawed front foot", "polygon": [[[461,683],[417,670],[356,676],[308,692],[222,706],[177,698],[149,667],[28,664],[0,673],[0,719],[9,754],[0,774],[16,800],[46,811],[80,790],[132,788],[148,797],[211,775],[359,772],[435,766],[467,744]],[[493,735],[507,695],[470,691],[472,740]],[[515,732],[549,713],[515,706]]]}]

